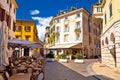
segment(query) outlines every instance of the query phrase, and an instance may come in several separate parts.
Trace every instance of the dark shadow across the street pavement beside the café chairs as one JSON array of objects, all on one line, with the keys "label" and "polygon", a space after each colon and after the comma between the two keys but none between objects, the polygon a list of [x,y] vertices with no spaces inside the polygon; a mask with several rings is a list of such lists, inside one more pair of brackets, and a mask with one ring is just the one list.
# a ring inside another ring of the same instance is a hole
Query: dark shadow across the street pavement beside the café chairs
[{"label": "dark shadow across the street pavement beside the caf\u00e9 chairs", "polygon": [[45,80],[113,80],[113,79],[110,79],[102,75],[84,76],[64,66],[59,62],[54,61],[54,62],[46,62]]}]

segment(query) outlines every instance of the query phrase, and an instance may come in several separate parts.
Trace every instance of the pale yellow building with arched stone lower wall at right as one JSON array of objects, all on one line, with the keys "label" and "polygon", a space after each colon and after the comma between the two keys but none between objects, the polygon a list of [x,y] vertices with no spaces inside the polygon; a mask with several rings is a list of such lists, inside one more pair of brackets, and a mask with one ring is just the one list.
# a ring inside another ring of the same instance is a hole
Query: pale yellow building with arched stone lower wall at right
[{"label": "pale yellow building with arched stone lower wall at right", "polygon": [[92,11],[95,17],[103,19],[102,62],[120,69],[120,0],[99,0]]}]

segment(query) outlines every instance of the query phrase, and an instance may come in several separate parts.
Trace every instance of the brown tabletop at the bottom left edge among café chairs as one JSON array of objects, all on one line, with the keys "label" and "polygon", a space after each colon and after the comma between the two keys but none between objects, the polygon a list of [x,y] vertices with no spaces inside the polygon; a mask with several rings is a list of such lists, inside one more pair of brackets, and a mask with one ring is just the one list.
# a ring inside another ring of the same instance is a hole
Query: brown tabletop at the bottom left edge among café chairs
[{"label": "brown tabletop at the bottom left edge among caf\u00e9 chairs", "polygon": [[8,80],[30,80],[30,73],[18,73],[11,76]]}]

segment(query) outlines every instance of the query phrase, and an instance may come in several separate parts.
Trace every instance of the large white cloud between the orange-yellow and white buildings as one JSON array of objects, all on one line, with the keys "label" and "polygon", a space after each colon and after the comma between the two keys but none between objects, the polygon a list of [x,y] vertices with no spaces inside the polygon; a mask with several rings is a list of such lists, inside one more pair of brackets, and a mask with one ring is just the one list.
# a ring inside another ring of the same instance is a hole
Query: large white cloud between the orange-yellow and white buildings
[{"label": "large white cloud between the orange-yellow and white buildings", "polygon": [[38,36],[40,40],[44,40],[45,38],[45,28],[46,26],[49,26],[49,23],[53,17],[32,17],[33,20],[38,21],[37,24],[37,30],[38,30]]}]

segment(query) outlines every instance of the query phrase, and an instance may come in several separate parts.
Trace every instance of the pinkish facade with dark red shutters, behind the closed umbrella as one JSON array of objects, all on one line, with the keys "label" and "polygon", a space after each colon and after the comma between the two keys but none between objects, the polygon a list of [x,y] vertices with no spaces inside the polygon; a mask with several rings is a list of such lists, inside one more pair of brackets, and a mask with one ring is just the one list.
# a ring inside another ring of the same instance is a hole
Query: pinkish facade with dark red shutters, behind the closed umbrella
[{"label": "pinkish facade with dark red shutters, behind the closed umbrella", "polygon": [[16,22],[16,9],[18,4],[16,0],[0,0],[0,11],[3,20],[6,20],[8,26],[8,37],[15,38],[15,22]]}]

